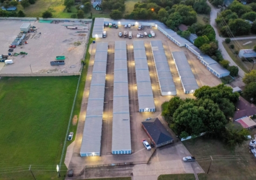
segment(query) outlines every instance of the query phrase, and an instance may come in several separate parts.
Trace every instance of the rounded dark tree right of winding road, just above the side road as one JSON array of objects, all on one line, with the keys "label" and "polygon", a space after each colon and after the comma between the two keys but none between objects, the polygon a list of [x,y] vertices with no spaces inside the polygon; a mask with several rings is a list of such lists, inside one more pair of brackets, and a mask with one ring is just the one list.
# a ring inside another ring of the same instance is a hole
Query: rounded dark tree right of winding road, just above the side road
[{"label": "rounded dark tree right of winding road, just above the side road", "polygon": [[244,19],[231,19],[229,21],[230,30],[234,35],[250,34],[251,24]]}]

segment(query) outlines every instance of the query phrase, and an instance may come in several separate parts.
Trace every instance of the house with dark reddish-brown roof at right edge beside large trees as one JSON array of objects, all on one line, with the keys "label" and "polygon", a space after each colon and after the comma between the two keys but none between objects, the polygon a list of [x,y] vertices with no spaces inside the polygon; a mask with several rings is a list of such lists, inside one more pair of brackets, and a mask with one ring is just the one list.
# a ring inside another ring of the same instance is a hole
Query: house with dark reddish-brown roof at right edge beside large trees
[{"label": "house with dark reddish-brown roof at right edge beside large trees", "polygon": [[236,104],[237,111],[234,113],[234,120],[251,117],[256,114],[256,106],[247,102],[243,97],[239,97],[239,100]]}]

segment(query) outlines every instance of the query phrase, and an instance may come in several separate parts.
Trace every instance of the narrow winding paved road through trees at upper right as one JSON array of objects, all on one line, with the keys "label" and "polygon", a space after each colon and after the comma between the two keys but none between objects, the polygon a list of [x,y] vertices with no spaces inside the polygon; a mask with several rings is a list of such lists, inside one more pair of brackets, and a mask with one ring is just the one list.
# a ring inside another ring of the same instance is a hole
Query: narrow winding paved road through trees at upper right
[{"label": "narrow winding paved road through trees at upper right", "polygon": [[[230,55],[227,53],[226,49],[224,48],[222,42],[225,38],[222,38],[222,37],[219,37],[219,33],[218,33],[218,30],[217,30],[217,26],[216,26],[216,23],[215,23],[215,19],[217,18],[217,11],[216,9],[209,3],[207,2],[207,4],[211,7],[211,13],[210,13],[210,24],[211,26],[213,27],[213,29],[215,30],[215,33],[216,33],[216,40],[219,41],[219,49],[222,50],[222,55],[223,55],[223,58],[225,60],[229,60],[230,61],[230,66],[237,66],[237,64],[232,60],[232,58],[230,57]],[[236,38],[237,39],[237,38]],[[245,38],[246,39],[246,38]],[[248,39],[251,39],[251,37],[248,37]],[[245,75],[245,72],[240,68],[239,68],[239,72],[238,72],[238,75],[241,76],[241,77],[244,77]]]}]

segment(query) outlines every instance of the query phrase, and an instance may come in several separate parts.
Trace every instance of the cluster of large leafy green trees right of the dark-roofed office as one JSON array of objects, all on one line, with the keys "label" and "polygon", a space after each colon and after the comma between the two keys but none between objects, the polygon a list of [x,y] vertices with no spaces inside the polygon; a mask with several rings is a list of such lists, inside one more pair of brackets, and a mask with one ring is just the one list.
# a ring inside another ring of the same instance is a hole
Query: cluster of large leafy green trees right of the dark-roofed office
[{"label": "cluster of large leafy green trees right of the dark-roofed office", "polygon": [[[229,145],[241,145],[248,131],[226,128],[229,118],[233,117],[239,93],[220,84],[217,87],[204,86],[195,91],[196,99],[171,98],[167,110],[162,112],[170,128],[181,138],[190,135],[220,138]],[[233,139],[233,136],[236,136]]]}]

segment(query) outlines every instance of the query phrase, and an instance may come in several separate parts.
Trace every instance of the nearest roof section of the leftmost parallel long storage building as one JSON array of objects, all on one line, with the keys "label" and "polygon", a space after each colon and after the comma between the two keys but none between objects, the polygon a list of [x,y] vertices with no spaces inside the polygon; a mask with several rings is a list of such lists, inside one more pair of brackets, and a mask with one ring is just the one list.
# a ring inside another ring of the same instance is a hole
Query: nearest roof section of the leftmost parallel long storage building
[{"label": "nearest roof section of the leftmost parallel long storage building", "polygon": [[80,153],[100,153],[102,117],[86,117]]}]

